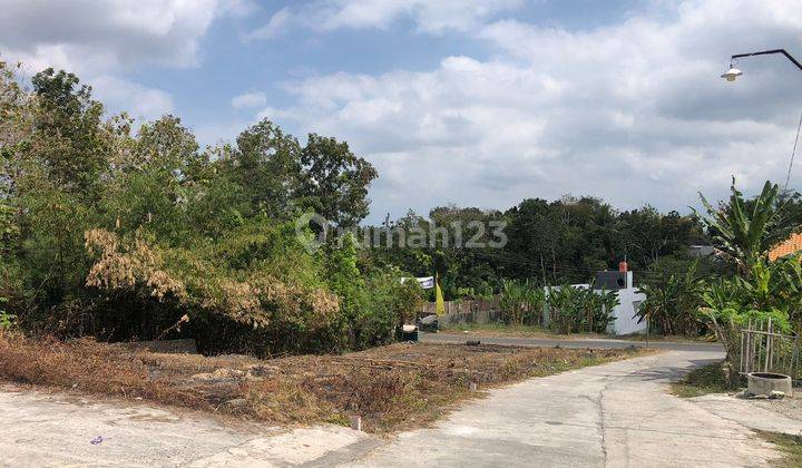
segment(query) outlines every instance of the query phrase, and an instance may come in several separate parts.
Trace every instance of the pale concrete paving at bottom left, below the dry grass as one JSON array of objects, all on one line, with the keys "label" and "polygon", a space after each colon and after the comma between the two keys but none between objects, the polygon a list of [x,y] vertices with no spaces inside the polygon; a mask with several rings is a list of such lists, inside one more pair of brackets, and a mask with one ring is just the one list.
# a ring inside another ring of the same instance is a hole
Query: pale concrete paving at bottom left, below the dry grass
[{"label": "pale concrete paving at bottom left, below the dry grass", "polygon": [[129,400],[0,386],[0,467],[336,465],[378,441],[340,426],[271,428]]}]

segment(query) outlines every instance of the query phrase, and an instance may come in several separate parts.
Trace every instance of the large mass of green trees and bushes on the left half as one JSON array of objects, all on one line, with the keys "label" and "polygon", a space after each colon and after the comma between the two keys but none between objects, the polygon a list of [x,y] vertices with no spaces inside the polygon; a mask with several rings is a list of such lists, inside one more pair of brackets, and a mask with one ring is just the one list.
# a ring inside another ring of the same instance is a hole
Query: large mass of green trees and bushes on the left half
[{"label": "large mass of green trees and bushes on the left half", "polygon": [[412,293],[365,277],[352,248],[313,255],[299,242],[305,207],[349,223],[366,213],[375,170],[346,144],[315,136],[302,149],[263,120],[202,150],[174,116],[136,135],[125,114],[104,120],[71,74],[31,82],[0,62],[3,318],[107,340],[169,330],[208,352],[264,354],[385,341],[409,315]]}]

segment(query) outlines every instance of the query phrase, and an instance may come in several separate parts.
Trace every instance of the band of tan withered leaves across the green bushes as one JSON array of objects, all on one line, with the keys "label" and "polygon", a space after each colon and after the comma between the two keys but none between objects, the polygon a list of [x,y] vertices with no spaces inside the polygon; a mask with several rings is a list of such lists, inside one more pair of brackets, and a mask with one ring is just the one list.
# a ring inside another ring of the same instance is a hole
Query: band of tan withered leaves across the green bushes
[{"label": "band of tan withered leaves across the green bushes", "polygon": [[[134,238],[94,228],[84,233],[87,252],[95,257],[86,285],[100,290],[141,291],[159,301],[172,296],[188,308],[225,315],[236,322],[265,328],[278,319],[302,323],[309,330],[329,326],[340,312],[338,296],[321,287],[291,284],[274,275],[255,272],[247,277],[229,277],[214,262],[195,259],[187,274],[176,269],[168,252],[148,242],[143,232]],[[189,259],[193,259],[189,255]],[[170,267],[170,265],[173,267]],[[197,273],[202,274],[197,274]]]}]

